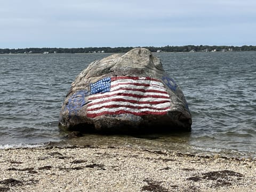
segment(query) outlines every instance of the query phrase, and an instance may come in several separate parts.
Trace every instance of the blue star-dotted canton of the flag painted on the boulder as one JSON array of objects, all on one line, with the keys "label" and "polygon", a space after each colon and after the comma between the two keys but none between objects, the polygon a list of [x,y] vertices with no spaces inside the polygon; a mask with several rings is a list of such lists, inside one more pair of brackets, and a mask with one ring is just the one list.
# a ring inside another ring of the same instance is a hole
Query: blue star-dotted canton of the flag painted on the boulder
[{"label": "blue star-dotted canton of the flag painted on the boulder", "polygon": [[91,94],[106,93],[110,91],[111,77],[103,78],[96,83],[91,83]]}]

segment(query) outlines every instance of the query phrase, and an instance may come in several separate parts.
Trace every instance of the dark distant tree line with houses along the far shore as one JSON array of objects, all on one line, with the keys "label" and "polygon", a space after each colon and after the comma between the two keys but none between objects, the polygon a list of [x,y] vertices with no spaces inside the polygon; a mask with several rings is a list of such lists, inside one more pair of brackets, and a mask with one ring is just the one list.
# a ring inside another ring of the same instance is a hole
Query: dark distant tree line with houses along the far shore
[{"label": "dark distant tree line with houses along the far shore", "polygon": [[[134,47],[84,47],[84,48],[25,48],[25,49],[0,49],[0,54],[24,54],[24,53],[126,53]],[[209,46],[209,45],[185,45],[145,47],[151,52],[210,52],[210,51],[256,51],[256,46]]]}]

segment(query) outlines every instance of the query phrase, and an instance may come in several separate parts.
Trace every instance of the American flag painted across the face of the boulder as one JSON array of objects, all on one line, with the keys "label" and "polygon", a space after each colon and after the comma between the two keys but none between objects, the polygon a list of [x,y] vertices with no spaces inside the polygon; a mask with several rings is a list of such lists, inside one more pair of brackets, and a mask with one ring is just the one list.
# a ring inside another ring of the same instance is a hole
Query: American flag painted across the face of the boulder
[{"label": "American flag painted across the face of the boulder", "polygon": [[151,77],[117,76],[90,84],[87,117],[101,115],[165,115],[170,96],[163,83]]}]

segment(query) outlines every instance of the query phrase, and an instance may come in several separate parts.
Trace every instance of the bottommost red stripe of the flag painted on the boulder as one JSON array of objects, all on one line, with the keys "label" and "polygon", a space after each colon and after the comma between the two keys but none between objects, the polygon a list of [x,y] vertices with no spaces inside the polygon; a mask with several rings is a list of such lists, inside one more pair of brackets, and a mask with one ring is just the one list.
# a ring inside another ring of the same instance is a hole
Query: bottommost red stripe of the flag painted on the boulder
[{"label": "bottommost red stripe of the flag painted on the boulder", "polygon": [[117,110],[117,111],[103,111],[101,113],[93,113],[93,114],[87,114],[87,117],[89,118],[94,118],[97,116],[101,116],[101,115],[119,115],[119,114],[124,114],[124,113],[128,113],[128,114],[133,114],[133,115],[166,115],[167,111],[145,111],[145,112],[131,112],[129,110]]}]

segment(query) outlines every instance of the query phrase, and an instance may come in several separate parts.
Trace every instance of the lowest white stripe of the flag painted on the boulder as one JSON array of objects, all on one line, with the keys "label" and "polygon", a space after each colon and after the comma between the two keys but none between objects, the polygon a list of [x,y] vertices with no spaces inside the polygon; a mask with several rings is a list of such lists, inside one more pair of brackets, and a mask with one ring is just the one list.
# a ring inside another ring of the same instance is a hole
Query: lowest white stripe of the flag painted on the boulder
[{"label": "lowest white stripe of the flag painted on the boulder", "polygon": [[[99,103],[97,105],[89,106],[89,107],[87,107],[87,109],[93,110],[94,108],[106,107],[106,106],[110,106],[110,105],[118,105],[120,107],[125,106],[125,105],[129,105],[129,106],[133,106],[133,107],[144,107],[144,108],[154,107],[154,108],[157,108],[159,110],[162,110],[163,108],[170,107],[170,102],[165,102],[165,103],[159,103],[159,104],[151,105],[151,104],[140,104],[140,103],[123,102],[123,101],[110,101],[110,102]],[[126,108],[129,108],[129,107],[126,107]]]}]

